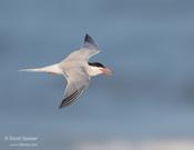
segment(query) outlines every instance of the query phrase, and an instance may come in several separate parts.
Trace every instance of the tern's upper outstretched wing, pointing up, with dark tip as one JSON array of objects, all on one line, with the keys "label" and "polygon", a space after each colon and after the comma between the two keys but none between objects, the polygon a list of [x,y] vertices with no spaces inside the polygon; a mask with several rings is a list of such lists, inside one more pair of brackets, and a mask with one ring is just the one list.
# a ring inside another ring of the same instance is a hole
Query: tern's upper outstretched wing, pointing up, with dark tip
[{"label": "tern's upper outstretched wing, pointing up, with dark tip", "polygon": [[85,34],[84,43],[80,50],[72,52],[65,60],[85,60],[100,52],[98,43],[90,37]]}]

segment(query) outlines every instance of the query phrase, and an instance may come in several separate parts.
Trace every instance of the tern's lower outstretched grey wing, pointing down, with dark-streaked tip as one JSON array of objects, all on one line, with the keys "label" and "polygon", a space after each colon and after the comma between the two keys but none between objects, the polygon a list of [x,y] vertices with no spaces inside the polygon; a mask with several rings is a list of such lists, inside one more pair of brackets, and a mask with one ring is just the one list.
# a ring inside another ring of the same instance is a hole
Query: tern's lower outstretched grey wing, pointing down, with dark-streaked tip
[{"label": "tern's lower outstretched grey wing, pointing down, with dark-streaked tip", "polygon": [[74,68],[65,72],[68,86],[60,108],[71,106],[89,87],[90,77],[82,68]]}]

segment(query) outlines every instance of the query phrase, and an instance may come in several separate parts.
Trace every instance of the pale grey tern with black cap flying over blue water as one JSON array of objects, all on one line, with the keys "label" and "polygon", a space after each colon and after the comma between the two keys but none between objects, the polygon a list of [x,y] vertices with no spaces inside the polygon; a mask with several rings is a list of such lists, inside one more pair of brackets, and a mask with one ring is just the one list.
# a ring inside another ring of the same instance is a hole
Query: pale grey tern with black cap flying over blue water
[{"label": "pale grey tern with black cap flying over blue water", "polygon": [[85,89],[88,89],[91,77],[98,74],[111,76],[112,71],[100,62],[89,62],[89,59],[100,52],[94,39],[88,33],[84,37],[83,46],[70,53],[64,60],[51,66],[22,69],[19,71],[47,72],[60,74],[67,79],[64,98],[59,108],[69,107],[76,101]]}]

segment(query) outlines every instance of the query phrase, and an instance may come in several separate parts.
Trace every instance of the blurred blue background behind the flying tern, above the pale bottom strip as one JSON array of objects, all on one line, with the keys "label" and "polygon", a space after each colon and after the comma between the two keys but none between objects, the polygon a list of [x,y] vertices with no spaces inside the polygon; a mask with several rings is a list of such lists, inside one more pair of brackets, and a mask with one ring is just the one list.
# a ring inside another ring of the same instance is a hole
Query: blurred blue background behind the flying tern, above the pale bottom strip
[{"label": "blurred blue background behind the flying tern, above the pale bottom strip", "polygon": [[[39,149],[82,141],[194,138],[194,9],[190,0],[0,0],[0,144],[39,137]],[[112,68],[59,110],[65,80],[18,72],[52,64],[89,33]]]}]

